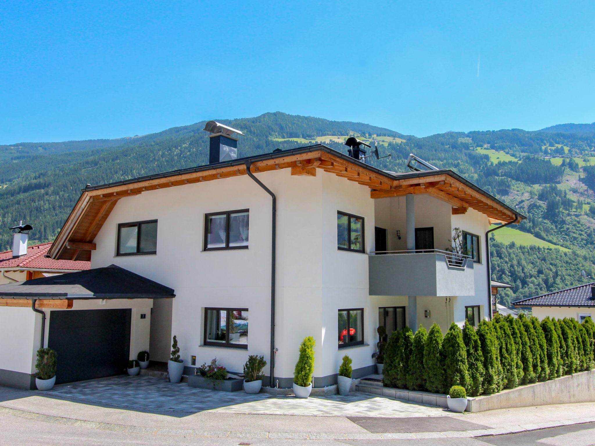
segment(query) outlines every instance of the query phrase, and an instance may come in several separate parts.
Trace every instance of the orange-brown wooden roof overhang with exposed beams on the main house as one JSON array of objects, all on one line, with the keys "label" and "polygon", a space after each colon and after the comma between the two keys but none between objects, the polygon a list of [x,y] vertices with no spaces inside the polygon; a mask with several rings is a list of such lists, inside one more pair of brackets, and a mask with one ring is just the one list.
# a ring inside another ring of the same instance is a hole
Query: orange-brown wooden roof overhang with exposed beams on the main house
[{"label": "orange-brown wooden roof overhang with exposed beams on the main house", "polygon": [[369,187],[372,199],[427,193],[450,203],[453,214],[465,213],[472,208],[487,215],[491,222],[506,223],[515,219],[520,222],[525,218],[453,171],[394,174],[330,147],[314,145],[87,187],[52,244],[49,255],[54,259],[90,260],[90,252],[95,250],[92,242],[118,200],[150,190],[246,175],[246,165],[250,165],[250,171],[255,174],[290,168],[292,175],[315,177],[321,169]]}]

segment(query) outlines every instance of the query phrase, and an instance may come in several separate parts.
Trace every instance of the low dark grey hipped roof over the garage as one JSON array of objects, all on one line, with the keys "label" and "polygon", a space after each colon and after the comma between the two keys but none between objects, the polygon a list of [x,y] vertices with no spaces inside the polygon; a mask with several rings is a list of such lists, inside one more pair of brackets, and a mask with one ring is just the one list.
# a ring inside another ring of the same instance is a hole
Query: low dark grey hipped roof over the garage
[{"label": "low dark grey hipped roof over the garage", "polygon": [[0,285],[0,299],[156,299],[174,290],[120,266]]}]

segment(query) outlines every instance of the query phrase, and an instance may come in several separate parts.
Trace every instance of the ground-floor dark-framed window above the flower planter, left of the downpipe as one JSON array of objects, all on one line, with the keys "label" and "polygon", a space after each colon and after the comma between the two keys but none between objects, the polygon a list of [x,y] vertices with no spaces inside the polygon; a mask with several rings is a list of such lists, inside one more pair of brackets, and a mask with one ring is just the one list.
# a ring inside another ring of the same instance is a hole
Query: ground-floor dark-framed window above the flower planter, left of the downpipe
[{"label": "ground-floor dark-framed window above the flower planter, left of the downpipe", "polygon": [[248,348],[248,309],[205,308],[205,346]]}]

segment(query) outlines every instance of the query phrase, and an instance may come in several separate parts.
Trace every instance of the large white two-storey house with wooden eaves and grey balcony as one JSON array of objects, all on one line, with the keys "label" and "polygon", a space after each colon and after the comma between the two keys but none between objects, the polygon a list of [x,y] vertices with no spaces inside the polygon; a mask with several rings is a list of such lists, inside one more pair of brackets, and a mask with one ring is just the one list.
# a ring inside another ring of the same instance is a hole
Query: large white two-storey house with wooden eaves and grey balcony
[{"label": "large white two-storey house with wooden eaves and grey balcony", "polygon": [[[324,145],[235,158],[234,130],[209,124],[211,164],[87,187],[50,251],[162,284],[136,306],[74,300],[61,310],[93,308],[85,316],[98,322],[101,312],[132,309],[121,315],[132,328],[126,346],[112,346],[118,357],[148,348],[165,362],[177,335],[186,373],[214,357],[241,372],[249,354],[262,354],[267,381],[291,387],[299,344],[311,335],[322,387],[336,382],[344,354],[355,378],[374,370],[378,325],[390,333],[436,322],[445,332],[491,317],[486,231],[525,218],[514,209],[451,170],[382,171],[360,161],[358,147],[355,158]],[[464,231],[470,256],[447,251],[453,228]],[[43,284],[67,298],[60,284]],[[35,295],[35,286],[20,293]],[[0,285],[0,298],[17,291]],[[68,352],[58,352],[60,375],[74,360],[69,340],[87,335],[84,326],[54,331],[58,312],[46,313],[43,342]],[[39,331],[36,317],[27,333]]]}]

